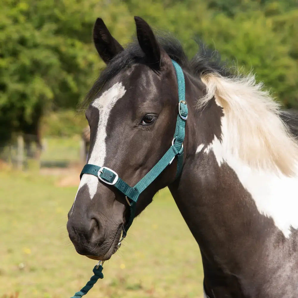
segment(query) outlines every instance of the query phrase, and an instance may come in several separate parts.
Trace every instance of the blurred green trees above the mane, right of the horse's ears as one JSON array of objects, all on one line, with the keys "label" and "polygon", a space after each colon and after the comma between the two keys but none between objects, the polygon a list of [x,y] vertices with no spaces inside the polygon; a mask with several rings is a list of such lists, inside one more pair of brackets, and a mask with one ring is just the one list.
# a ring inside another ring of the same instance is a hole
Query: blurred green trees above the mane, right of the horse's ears
[{"label": "blurred green trees above the mane, right of the horse's ears", "polygon": [[[298,108],[298,39],[294,38],[298,32],[298,9],[294,9],[294,0],[290,12],[285,12],[286,1],[167,1],[167,5],[125,2],[133,15],[140,14],[155,27],[173,32],[190,57],[198,47],[193,38],[201,39],[230,61],[230,66],[256,73],[257,80],[263,81],[286,107]],[[210,8],[215,2],[216,10]],[[233,9],[232,16],[227,13],[228,8]]]}]

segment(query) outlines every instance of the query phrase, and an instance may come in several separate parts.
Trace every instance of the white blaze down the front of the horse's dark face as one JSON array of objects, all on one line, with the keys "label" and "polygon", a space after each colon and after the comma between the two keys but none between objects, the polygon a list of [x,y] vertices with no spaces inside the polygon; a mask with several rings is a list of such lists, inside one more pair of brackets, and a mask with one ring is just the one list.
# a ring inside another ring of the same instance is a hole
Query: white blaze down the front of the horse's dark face
[{"label": "white blaze down the front of the horse's dark face", "polygon": [[[126,90],[122,83],[114,84],[110,89],[105,91],[99,98],[91,103],[92,106],[99,110],[99,120],[97,127],[96,139],[88,161],[88,164],[104,166],[105,162],[105,138],[107,136],[106,126],[110,116],[111,109],[117,103],[117,100],[123,97]],[[83,174],[78,191],[83,185],[87,184],[91,200],[97,191],[98,178],[91,174]],[[77,196],[77,195],[76,195]]]}]

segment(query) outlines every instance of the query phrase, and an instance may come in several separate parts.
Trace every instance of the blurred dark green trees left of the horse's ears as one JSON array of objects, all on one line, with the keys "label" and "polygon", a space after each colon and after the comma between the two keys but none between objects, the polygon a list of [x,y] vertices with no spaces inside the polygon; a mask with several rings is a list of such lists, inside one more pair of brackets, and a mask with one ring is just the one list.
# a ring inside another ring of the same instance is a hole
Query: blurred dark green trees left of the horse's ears
[{"label": "blurred dark green trees left of the horse's ears", "polygon": [[[104,6],[96,0],[1,1],[0,142],[12,132],[38,135],[47,110],[76,107],[103,67],[91,30]],[[121,25],[123,8],[110,7],[107,19]]]}]

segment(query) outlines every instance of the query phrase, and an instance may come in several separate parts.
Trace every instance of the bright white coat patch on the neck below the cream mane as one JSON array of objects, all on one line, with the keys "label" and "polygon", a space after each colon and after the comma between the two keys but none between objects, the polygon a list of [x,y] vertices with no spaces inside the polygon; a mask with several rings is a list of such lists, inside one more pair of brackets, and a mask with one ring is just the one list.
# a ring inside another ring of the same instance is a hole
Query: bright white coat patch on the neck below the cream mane
[{"label": "bright white coat patch on the neck below the cream mane", "polygon": [[204,153],[208,154],[212,150],[219,166],[226,162],[251,194],[258,211],[271,217],[285,237],[289,237],[290,227],[298,228],[298,167],[294,177],[249,167],[238,157],[238,152],[231,152],[229,149],[231,147],[225,117],[221,118],[221,128],[222,142],[215,136]]}]

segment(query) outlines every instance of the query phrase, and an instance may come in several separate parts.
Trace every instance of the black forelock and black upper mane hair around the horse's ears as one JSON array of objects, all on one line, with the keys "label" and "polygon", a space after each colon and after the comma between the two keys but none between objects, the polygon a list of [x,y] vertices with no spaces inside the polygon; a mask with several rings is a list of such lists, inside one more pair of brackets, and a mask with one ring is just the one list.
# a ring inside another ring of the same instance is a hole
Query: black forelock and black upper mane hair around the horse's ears
[{"label": "black forelock and black upper mane hair around the horse's ears", "polygon": [[[221,76],[229,77],[231,73],[225,63],[222,63],[217,51],[208,49],[202,42],[198,42],[197,54],[189,60],[185,54],[180,41],[168,33],[156,36],[159,45],[175,60],[184,70],[194,76],[206,73],[218,73]],[[117,54],[101,72],[98,79],[86,95],[82,107],[86,108],[96,97],[103,85],[115,77],[122,69],[130,67],[135,63],[146,64],[145,56],[137,41],[132,42],[125,50]]]}]

